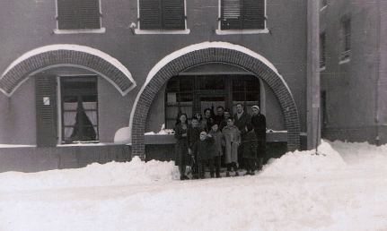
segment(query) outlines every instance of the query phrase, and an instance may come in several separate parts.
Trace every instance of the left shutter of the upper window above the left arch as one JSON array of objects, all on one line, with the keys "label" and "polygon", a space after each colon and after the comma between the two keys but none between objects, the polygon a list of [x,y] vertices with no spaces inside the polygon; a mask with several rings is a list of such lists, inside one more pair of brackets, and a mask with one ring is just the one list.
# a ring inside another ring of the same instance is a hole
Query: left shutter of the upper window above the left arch
[{"label": "left shutter of the upper window above the left arch", "polygon": [[57,0],[57,24],[59,30],[78,29],[76,0]]}]

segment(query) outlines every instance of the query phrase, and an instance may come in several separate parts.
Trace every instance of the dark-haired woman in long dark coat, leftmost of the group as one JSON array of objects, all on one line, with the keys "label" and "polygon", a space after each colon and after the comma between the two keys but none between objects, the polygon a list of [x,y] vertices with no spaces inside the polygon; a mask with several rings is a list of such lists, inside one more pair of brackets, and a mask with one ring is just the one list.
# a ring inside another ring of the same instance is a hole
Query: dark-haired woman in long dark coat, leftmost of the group
[{"label": "dark-haired woman in long dark coat, leftmost of the group", "polygon": [[175,165],[179,166],[180,180],[187,180],[185,175],[186,166],[189,164],[189,144],[187,138],[188,120],[186,114],[181,114],[174,128],[176,145],[175,145]]}]

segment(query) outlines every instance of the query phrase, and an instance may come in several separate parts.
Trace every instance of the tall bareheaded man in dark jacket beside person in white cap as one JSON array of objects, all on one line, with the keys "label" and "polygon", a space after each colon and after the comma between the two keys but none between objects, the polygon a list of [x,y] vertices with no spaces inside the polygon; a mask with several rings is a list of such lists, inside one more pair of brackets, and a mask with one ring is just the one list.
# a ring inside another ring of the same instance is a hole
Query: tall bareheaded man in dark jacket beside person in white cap
[{"label": "tall bareheaded man in dark jacket beside person in white cap", "polygon": [[[242,103],[238,103],[236,105],[236,113],[233,116],[234,124],[238,127],[239,131],[241,131],[242,141],[244,141],[244,135],[247,133],[246,125],[251,123],[251,116],[243,110]],[[238,148],[238,163],[240,163],[241,167],[244,168],[244,163],[242,161],[242,146]]]}]

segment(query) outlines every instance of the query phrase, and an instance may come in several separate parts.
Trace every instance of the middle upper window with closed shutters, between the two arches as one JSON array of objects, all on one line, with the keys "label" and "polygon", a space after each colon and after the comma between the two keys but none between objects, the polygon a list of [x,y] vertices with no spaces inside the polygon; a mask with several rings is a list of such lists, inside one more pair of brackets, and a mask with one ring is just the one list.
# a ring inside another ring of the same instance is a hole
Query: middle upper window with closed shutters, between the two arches
[{"label": "middle upper window with closed shutters, between the two arches", "polygon": [[140,30],[185,30],[184,0],[139,0]]}]

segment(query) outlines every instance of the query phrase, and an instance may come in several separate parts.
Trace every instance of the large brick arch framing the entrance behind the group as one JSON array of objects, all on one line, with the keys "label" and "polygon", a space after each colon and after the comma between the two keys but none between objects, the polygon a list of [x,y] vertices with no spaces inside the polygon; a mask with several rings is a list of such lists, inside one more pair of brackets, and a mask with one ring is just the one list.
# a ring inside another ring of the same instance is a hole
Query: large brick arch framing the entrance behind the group
[{"label": "large brick arch framing the entrance behind the group", "polygon": [[267,64],[240,51],[227,48],[206,48],[180,56],[154,75],[145,86],[136,106],[132,124],[132,155],[145,156],[145,120],[155,95],[172,76],[189,67],[206,63],[234,64],[255,74],[274,91],[285,117],[287,130],[287,150],[300,149],[300,121],[298,110],[286,83]]}]

